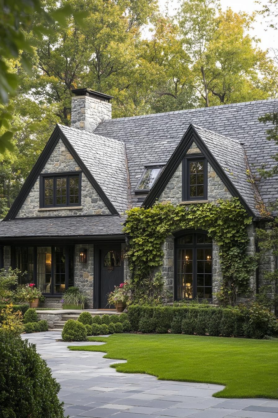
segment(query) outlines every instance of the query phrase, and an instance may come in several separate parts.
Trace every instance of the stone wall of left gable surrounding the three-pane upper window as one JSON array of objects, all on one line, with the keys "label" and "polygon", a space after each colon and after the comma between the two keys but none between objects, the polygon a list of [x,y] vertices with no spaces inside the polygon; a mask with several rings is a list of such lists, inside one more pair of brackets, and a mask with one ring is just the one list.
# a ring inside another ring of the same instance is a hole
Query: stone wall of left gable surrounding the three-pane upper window
[{"label": "stone wall of left gable surrounding the three-pane upper window", "polygon": [[[80,167],[69,153],[62,140],[58,141],[53,153],[45,164],[42,174],[80,171]],[[25,199],[16,217],[46,217],[69,215],[103,215],[110,214],[98,193],[82,173],[81,205],[73,208],[41,208],[40,209],[40,178],[38,177],[30,193]]]}]

